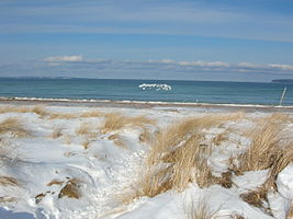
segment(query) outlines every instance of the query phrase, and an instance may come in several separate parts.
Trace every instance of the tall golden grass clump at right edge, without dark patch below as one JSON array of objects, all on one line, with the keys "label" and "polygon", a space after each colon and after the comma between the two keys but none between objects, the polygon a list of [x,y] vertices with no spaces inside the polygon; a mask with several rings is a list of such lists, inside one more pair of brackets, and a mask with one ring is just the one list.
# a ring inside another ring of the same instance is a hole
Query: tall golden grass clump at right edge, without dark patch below
[{"label": "tall golden grass clump at right edge, without dark patch below", "polygon": [[273,186],[278,174],[293,161],[293,139],[286,136],[288,115],[272,114],[253,129],[251,145],[238,157],[237,171],[270,170],[266,185]]}]

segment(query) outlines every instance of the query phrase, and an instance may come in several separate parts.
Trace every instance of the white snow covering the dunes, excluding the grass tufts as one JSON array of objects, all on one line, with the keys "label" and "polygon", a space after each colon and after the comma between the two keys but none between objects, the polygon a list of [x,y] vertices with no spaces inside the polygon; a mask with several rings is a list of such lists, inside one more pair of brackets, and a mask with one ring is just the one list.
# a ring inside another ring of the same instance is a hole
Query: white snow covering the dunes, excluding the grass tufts
[{"label": "white snow covering the dunes, excluding the grass tufts", "polygon": [[[59,113],[98,110],[127,116],[146,115],[157,120],[157,126],[147,126],[150,132],[156,132],[159,128],[185,117],[211,113],[203,108],[184,107],[136,110],[47,106],[46,108]],[[253,119],[267,114],[247,113],[246,118],[240,122],[229,122],[224,127],[205,130],[206,141],[211,141],[227,128],[234,130],[219,146],[213,146],[209,165],[215,176],[228,170],[227,160],[230,157],[241,153],[249,146],[250,139],[244,137],[240,130],[253,127]],[[99,127],[103,118],[100,117],[49,119],[35,113],[0,114],[0,123],[9,117],[20,118],[32,135],[24,138],[13,138],[9,134],[0,136],[2,145],[10,147],[5,157],[12,158],[0,158],[0,176],[11,176],[19,182],[19,186],[0,184],[1,219],[176,219],[187,218],[188,209],[191,206],[196,208],[203,200],[211,211],[215,212],[216,218],[228,219],[233,215],[253,219],[272,218],[239,197],[241,193],[260,186],[268,177],[268,170],[233,175],[232,188],[219,185],[200,188],[195,184],[190,184],[181,193],[168,191],[153,198],[140,197],[127,205],[121,205],[120,195],[133,186],[144,168],[144,158],[150,147],[147,142],[139,141],[142,128],[125,127],[119,131],[102,134]],[[87,136],[76,134],[77,128],[84,122],[91,124],[94,130],[88,149],[82,146]],[[56,128],[60,128],[63,135],[53,138],[52,134]],[[292,126],[288,128],[292,130]],[[124,147],[109,139],[116,132],[121,136]],[[70,142],[66,138],[70,138]],[[72,178],[79,180],[81,197],[79,199],[58,197],[61,188]],[[61,183],[49,185],[48,183],[54,180]],[[270,194],[268,198],[275,218],[284,218],[293,197],[292,164],[279,174],[277,185],[279,193]],[[15,200],[5,201],[4,198],[15,198]]]}]

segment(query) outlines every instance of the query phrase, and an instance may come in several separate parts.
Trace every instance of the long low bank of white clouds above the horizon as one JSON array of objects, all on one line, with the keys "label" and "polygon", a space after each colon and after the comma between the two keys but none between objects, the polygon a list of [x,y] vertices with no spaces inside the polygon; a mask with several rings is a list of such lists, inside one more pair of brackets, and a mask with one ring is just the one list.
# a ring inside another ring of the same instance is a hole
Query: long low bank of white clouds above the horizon
[{"label": "long low bank of white clouds above the horizon", "polygon": [[[120,69],[120,70],[169,70],[173,72],[255,72],[255,73],[293,73],[292,65],[281,64],[227,64],[224,61],[185,61],[171,59],[149,60],[110,60],[110,59],[83,59],[78,56],[53,56],[43,59],[49,66],[67,66],[67,68],[80,69]],[[77,62],[72,67],[71,64]]]}]

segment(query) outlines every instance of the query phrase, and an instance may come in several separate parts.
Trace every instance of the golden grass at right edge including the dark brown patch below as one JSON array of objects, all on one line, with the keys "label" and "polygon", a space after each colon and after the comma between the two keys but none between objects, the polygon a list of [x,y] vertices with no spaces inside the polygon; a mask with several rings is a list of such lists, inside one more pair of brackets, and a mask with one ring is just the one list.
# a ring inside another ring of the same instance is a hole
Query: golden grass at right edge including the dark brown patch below
[{"label": "golden grass at right edge including the dark brown patch below", "polygon": [[235,173],[240,174],[245,171],[269,170],[269,177],[263,185],[240,196],[269,215],[271,210],[263,207],[267,194],[277,191],[278,174],[293,161],[293,139],[286,135],[286,123],[288,115],[279,113],[260,120],[251,131],[249,148],[236,158],[238,166],[232,168]]}]

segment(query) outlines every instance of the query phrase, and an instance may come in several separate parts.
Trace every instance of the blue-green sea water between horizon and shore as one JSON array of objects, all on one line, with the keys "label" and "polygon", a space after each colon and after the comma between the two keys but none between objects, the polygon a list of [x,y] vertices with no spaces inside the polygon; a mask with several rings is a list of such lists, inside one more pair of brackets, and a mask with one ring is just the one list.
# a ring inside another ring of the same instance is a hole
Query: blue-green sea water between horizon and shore
[{"label": "blue-green sea water between horizon and shore", "polygon": [[[142,83],[172,89],[142,90]],[[0,79],[0,96],[278,105],[284,87],[283,105],[293,105],[293,84],[214,81]]]}]

